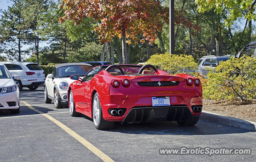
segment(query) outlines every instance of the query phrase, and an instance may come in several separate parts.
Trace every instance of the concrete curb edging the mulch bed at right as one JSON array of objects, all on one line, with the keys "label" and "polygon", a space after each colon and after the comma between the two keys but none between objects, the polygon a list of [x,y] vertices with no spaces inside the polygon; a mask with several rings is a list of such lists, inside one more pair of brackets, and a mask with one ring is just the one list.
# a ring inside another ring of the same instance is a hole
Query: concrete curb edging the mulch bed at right
[{"label": "concrete curb edging the mulch bed at right", "polygon": [[247,129],[250,131],[256,131],[256,122],[237,119],[234,117],[227,117],[224,115],[211,113],[208,111],[202,111],[202,114],[200,115],[200,119],[212,121],[214,123],[229,125],[232,127]]}]

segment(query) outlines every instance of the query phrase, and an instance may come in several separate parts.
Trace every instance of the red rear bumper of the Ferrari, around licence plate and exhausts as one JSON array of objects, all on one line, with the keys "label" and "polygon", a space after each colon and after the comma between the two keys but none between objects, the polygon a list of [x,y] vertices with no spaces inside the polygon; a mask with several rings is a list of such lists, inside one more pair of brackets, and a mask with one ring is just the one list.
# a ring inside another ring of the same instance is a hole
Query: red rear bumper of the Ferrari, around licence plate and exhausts
[{"label": "red rear bumper of the Ferrari, around licence plate and exhausts", "polygon": [[[170,97],[170,106],[152,106],[152,97]],[[195,97],[196,96],[196,97]],[[201,114],[192,111],[193,105],[202,105],[202,93],[99,95],[103,118],[107,121],[141,123],[154,121],[188,121]],[[123,115],[110,115],[109,109],[125,110]]]}]

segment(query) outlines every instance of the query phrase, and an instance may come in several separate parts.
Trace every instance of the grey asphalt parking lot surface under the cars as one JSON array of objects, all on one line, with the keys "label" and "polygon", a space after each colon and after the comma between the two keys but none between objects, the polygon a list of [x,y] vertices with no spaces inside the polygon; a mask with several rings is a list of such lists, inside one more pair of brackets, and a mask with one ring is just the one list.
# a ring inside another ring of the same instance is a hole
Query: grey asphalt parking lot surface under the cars
[{"label": "grey asphalt parking lot surface under the cars", "polygon": [[[68,107],[44,103],[42,87],[20,92],[20,113],[0,110],[0,162],[99,161],[256,161],[256,132],[199,120],[116,124],[94,128],[86,116],[71,117]],[[160,148],[251,148],[250,155],[160,155]]]}]

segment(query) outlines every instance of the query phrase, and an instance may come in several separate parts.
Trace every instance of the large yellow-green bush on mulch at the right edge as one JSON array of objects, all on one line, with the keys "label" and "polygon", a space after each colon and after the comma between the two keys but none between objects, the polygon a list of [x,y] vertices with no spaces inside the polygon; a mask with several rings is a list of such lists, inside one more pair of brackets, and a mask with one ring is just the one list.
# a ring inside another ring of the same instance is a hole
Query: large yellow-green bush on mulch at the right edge
[{"label": "large yellow-green bush on mulch at the right edge", "polygon": [[204,98],[250,100],[256,98],[256,58],[232,58],[210,70],[204,85]]}]

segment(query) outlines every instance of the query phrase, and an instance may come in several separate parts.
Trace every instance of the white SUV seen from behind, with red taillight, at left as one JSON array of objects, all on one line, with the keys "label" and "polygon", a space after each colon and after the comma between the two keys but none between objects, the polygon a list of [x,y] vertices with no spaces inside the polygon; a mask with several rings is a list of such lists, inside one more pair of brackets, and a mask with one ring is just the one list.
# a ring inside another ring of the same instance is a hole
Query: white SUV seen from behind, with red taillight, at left
[{"label": "white SUV seen from behind, with red taillight, at left", "polygon": [[44,84],[44,70],[34,62],[2,62],[10,74],[20,75],[21,79],[16,80],[19,89],[28,87],[36,90],[40,84]]}]

